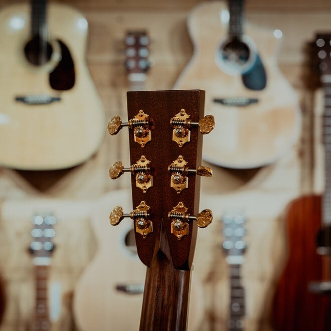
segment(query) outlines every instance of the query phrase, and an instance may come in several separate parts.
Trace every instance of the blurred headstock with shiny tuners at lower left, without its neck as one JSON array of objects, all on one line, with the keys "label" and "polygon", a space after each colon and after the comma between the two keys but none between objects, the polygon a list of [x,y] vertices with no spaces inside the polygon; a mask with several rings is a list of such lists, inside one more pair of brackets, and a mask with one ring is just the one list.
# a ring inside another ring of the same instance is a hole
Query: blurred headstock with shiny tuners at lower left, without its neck
[{"label": "blurred headstock with shiny tuners at lower left, without its neck", "polygon": [[33,229],[31,236],[33,238],[30,244],[30,252],[36,263],[43,264],[43,259],[50,258],[54,250],[53,238],[55,236],[54,225],[57,219],[53,215],[35,215],[32,218]]}]

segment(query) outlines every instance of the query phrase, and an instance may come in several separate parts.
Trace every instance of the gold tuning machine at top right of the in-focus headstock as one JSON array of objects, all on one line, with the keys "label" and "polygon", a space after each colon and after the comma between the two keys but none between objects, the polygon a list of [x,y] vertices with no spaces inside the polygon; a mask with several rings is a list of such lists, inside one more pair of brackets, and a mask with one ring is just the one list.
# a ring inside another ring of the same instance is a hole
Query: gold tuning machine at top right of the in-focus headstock
[{"label": "gold tuning machine at top right of the in-focus headstock", "polygon": [[171,118],[170,124],[173,126],[173,140],[182,147],[185,143],[190,141],[191,127],[199,127],[202,134],[211,132],[215,127],[215,119],[213,115],[206,115],[200,119],[199,122],[193,122],[190,120],[190,115],[184,108]]}]

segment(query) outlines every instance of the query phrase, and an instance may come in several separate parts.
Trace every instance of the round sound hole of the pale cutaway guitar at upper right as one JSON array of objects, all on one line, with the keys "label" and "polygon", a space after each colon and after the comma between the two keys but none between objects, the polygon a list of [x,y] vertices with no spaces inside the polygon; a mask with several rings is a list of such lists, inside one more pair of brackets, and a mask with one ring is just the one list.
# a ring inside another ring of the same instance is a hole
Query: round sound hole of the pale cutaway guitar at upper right
[{"label": "round sound hole of the pale cutaway guitar at upper right", "polygon": [[226,43],[224,43],[219,49],[221,61],[230,70],[236,72],[246,72],[245,66],[250,59],[250,49],[249,47],[239,40],[234,38]]}]

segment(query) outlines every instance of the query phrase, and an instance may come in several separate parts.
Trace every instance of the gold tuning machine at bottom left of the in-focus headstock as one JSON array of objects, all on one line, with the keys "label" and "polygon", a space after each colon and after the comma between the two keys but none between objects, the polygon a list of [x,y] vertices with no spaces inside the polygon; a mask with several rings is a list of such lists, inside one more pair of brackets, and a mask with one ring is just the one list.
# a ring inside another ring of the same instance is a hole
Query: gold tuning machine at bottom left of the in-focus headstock
[{"label": "gold tuning machine at bottom left of the in-focus headstock", "polygon": [[116,206],[109,215],[111,225],[118,225],[125,217],[129,217],[134,221],[135,231],[146,238],[147,235],[153,232],[153,223],[150,221],[150,207],[144,201],[129,214],[123,213],[121,206]]}]

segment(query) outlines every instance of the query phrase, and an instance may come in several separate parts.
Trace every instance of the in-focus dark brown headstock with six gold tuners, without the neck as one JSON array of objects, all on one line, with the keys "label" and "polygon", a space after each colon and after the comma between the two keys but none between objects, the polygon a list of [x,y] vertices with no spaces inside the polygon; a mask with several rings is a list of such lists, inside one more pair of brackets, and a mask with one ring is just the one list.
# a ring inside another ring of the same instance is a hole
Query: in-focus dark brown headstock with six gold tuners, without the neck
[{"label": "in-focus dark brown headstock with six gold tuners, without the neck", "polygon": [[[198,213],[200,177],[196,175],[212,173],[199,164],[201,133],[215,125],[213,116],[203,117],[204,101],[202,90],[127,92],[128,122],[116,117],[108,124],[111,134],[123,126],[130,128],[131,165],[125,169],[120,164],[119,173],[131,173],[133,202],[130,214],[116,207],[110,222],[117,225],[124,217],[133,219],[138,256],[146,266],[160,247],[163,227],[174,267],[190,269],[197,227],[212,221],[211,211]],[[118,163],[111,170],[117,168]]]}]

